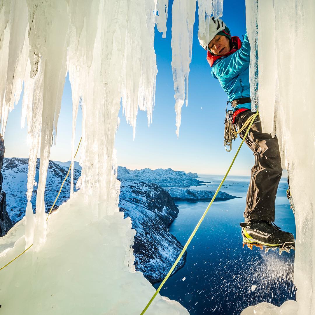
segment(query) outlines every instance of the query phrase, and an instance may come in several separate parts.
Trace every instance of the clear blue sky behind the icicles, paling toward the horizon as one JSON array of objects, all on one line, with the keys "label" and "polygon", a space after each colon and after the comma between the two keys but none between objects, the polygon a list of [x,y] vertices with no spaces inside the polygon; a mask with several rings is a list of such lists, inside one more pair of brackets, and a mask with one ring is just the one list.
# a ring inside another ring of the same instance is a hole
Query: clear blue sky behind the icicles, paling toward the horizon
[{"label": "clear blue sky behind the icicles, paling toward the horizon", "polygon": [[[172,168],[199,174],[224,174],[238,147],[239,139],[233,142],[232,152],[223,146],[224,118],[227,97],[218,80],[212,78],[206,52],[197,38],[198,15],[194,25],[192,63],[189,74],[188,107],[182,107],[179,139],[175,134],[175,99],[171,69],[171,7],[166,38],[155,32],[157,55],[157,82],[153,121],[147,126],[146,113],[139,111],[135,140],[122,111],[115,146],[118,164],[129,169]],[[236,5],[237,3],[237,5]],[[224,0],[223,19],[232,35],[245,33],[244,1]],[[27,157],[27,131],[20,129],[21,102],[10,113],[5,133],[7,157]],[[81,136],[81,112],[78,116],[76,143]],[[52,146],[51,159],[67,161],[71,150],[72,99],[68,78],[62,97],[58,122],[57,144]],[[231,174],[250,175],[254,163],[252,152],[244,144]]]}]

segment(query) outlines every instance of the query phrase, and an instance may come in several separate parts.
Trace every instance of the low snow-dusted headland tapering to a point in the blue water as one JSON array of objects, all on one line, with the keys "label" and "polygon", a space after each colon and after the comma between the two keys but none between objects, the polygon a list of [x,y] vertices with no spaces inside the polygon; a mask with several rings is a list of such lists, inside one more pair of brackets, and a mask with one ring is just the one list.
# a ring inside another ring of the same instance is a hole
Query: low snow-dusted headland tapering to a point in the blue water
[{"label": "low snow-dusted headland tapering to a point in the blue water", "polygon": [[[174,200],[187,200],[187,201],[210,201],[215,194],[213,190],[196,190],[186,188],[164,188]],[[226,192],[218,192],[215,201],[224,201],[232,198],[238,198],[227,194]]]}]

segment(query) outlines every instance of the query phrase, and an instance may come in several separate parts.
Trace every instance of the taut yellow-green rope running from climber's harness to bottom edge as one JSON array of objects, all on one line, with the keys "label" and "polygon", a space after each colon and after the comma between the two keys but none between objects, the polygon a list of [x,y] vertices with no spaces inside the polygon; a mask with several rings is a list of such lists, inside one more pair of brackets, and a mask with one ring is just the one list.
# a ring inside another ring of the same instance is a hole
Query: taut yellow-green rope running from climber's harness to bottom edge
[{"label": "taut yellow-green rope running from climber's harness to bottom edge", "polygon": [[[199,222],[197,223],[195,229],[194,229],[193,232],[192,232],[192,235],[188,238],[188,241],[186,242],[185,246],[183,247],[182,251],[180,252],[178,258],[176,259],[176,261],[175,261],[175,263],[174,263],[174,265],[171,267],[171,269],[169,270],[168,274],[166,275],[166,277],[164,278],[164,280],[162,281],[162,283],[160,284],[160,286],[157,288],[157,290],[156,290],[156,292],[153,294],[151,300],[148,302],[148,304],[147,304],[146,307],[143,309],[143,311],[141,312],[140,315],[143,315],[143,314],[146,312],[146,310],[148,309],[148,307],[150,306],[150,304],[152,303],[152,301],[154,300],[154,298],[157,296],[157,294],[159,293],[159,291],[162,289],[162,287],[163,287],[164,283],[166,282],[166,280],[169,278],[169,276],[171,275],[171,273],[172,273],[173,270],[175,269],[175,267],[176,267],[176,265],[178,264],[178,262],[180,261],[180,258],[182,257],[182,255],[184,255],[184,253],[185,253],[185,251],[186,251],[186,249],[187,249],[189,243],[191,242],[192,238],[195,236],[195,234],[196,234],[196,232],[197,232],[197,230],[198,230],[198,227],[200,226],[201,222],[203,221],[204,217],[206,216],[207,212],[209,211],[209,209],[210,209],[210,207],[211,207],[213,201],[215,200],[215,197],[217,196],[217,194],[218,194],[218,192],[219,192],[219,190],[220,190],[222,184],[224,183],[224,181],[225,181],[227,175],[229,174],[230,169],[232,168],[232,165],[233,165],[233,163],[234,163],[236,157],[238,156],[238,152],[239,152],[239,150],[241,149],[241,147],[242,147],[242,145],[243,145],[243,142],[244,142],[245,138],[246,138],[247,135],[248,135],[249,129],[250,129],[251,125],[253,124],[253,122],[254,122],[254,120],[255,120],[255,118],[256,118],[257,115],[258,115],[258,111],[257,111],[255,114],[253,114],[253,115],[251,116],[252,119],[251,119],[250,124],[249,124],[249,127],[248,127],[248,129],[247,129],[247,131],[246,131],[246,133],[245,133],[245,135],[244,135],[244,137],[243,137],[243,140],[242,140],[241,144],[239,145],[238,150],[237,150],[237,152],[236,152],[236,154],[235,154],[235,156],[234,156],[234,158],[233,158],[233,160],[232,160],[232,163],[230,164],[230,167],[228,168],[228,170],[227,170],[225,176],[223,177],[223,179],[222,179],[222,181],[221,181],[221,183],[220,183],[218,189],[215,191],[215,194],[214,194],[214,196],[212,197],[212,199],[211,199],[211,201],[210,201],[210,203],[209,203],[207,209],[204,211],[202,217],[200,218]],[[248,125],[249,122],[246,122],[246,123],[247,123],[247,125]],[[246,128],[246,126],[245,126],[245,128]]]}]

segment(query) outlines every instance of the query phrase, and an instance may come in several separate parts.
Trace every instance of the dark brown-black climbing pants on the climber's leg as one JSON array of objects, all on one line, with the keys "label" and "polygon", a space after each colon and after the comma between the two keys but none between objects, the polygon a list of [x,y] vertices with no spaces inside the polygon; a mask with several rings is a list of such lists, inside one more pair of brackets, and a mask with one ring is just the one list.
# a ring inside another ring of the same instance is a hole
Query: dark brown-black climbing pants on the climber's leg
[{"label": "dark brown-black climbing pants on the climber's leg", "polygon": [[[238,130],[252,114],[254,112],[248,110],[236,116],[234,123]],[[247,128],[240,133],[242,139],[246,130]],[[276,194],[282,175],[278,139],[276,136],[272,138],[270,134],[262,132],[261,121],[257,116],[244,142],[255,156],[244,217],[274,222]]]}]

